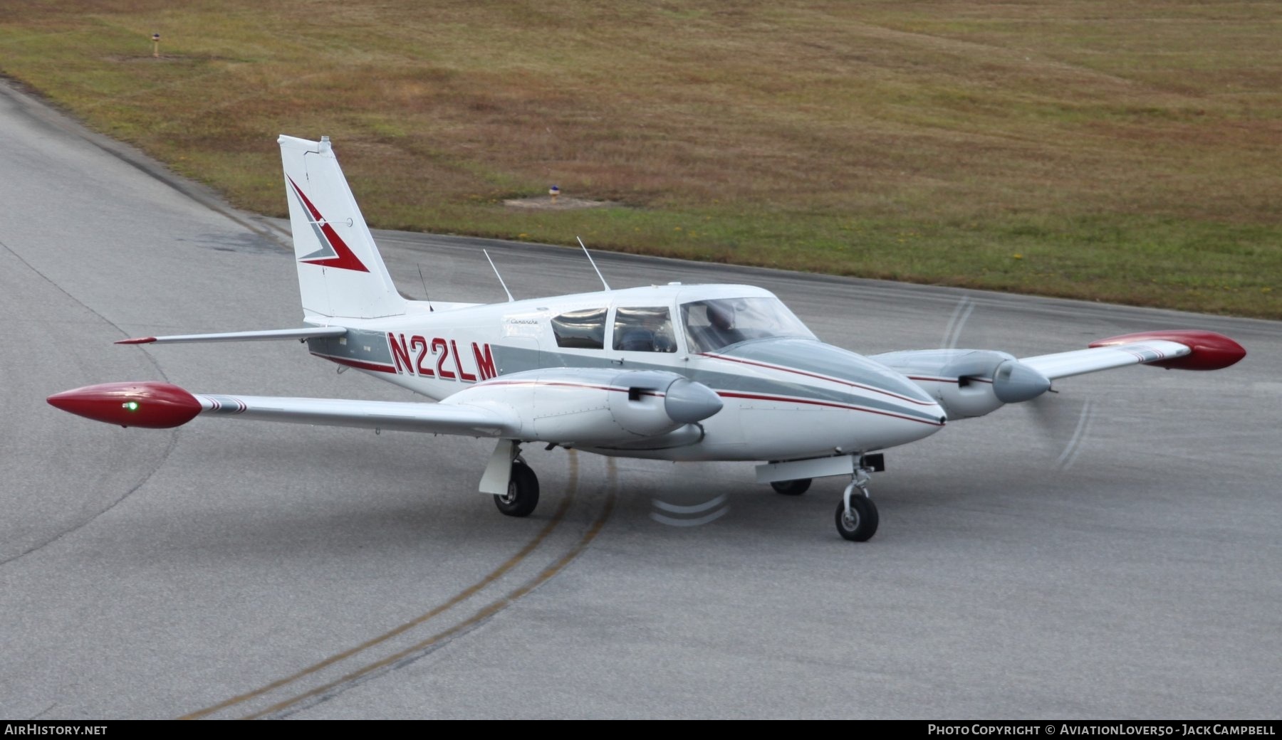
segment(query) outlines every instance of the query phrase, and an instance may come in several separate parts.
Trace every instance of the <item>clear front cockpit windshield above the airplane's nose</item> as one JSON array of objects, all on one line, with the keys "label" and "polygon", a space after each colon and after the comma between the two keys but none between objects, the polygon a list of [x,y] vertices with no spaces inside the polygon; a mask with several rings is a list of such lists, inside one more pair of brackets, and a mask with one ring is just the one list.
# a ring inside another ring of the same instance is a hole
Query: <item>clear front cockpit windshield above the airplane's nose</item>
[{"label": "clear front cockpit windshield above the airplane's nose", "polygon": [[778,298],[714,298],[681,305],[691,352],[715,352],[750,339],[804,337],[810,329]]}]

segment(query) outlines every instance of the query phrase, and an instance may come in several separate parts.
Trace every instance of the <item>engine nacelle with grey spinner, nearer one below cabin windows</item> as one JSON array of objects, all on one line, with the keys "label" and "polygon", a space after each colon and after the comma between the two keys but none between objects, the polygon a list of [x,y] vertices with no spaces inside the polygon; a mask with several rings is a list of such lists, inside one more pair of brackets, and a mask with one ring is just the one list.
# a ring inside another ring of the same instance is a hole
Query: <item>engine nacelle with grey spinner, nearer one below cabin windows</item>
[{"label": "engine nacelle with grey spinner, nearer one below cabin windows", "polygon": [[594,446],[659,437],[722,408],[701,383],[659,370],[531,370],[478,383],[442,403],[519,410],[519,438]]}]

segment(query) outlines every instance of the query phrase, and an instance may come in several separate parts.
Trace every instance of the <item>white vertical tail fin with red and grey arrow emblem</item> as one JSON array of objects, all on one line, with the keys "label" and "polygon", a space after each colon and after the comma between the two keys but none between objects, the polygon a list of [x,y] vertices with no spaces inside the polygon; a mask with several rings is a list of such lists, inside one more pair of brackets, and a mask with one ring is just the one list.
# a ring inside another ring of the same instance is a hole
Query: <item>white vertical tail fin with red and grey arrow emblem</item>
[{"label": "white vertical tail fin with red and grey arrow emblem", "polygon": [[281,136],[294,260],[308,315],[373,319],[405,312],[351,196],[329,138]]}]

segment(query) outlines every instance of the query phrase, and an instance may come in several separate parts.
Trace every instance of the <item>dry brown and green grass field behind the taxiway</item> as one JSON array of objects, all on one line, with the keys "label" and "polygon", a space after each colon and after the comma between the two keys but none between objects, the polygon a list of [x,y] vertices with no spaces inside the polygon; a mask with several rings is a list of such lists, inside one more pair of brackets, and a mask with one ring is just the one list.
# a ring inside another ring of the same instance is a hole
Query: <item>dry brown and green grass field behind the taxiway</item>
[{"label": "dry brown and green grass field behind the taxiway", "polygon": [[[250,209],[324,133],[383,227],[1263,316],[1278,38],[1267,3],[0,4],[3,72]],[[551,183],[629,207],[501,206]]]}]

